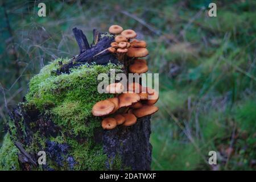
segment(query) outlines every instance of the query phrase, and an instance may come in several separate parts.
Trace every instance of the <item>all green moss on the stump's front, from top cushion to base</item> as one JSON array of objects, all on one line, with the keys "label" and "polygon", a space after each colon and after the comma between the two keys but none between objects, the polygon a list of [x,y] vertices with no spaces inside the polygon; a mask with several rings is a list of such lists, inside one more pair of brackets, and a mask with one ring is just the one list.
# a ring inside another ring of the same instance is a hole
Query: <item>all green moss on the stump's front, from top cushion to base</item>
[{"label": "all green moss on the stump's front, from top cushion to base", "polygon": [[[24,108],[35,108],[42,116],[50,119],[60,130],[57,136],[45,136],[34,131],[34,122],[30,123],[31,143],[24,146],[26,151],[36,156],[40,150],[46,151],[47,164],[39,169],[47,170],[100,170],[106,169],[108,160],[101,143],[94,142],[94,130],[100,128],[101,118],[93,117],[93,105],[100,100],[113,97],[97,91],[99,73],[110,73],[110,69],[121,72],[120,65],[88,65],[72,68],[70,73],[53,74],[59,68],[59,61],[67,63],[68,59],[57,59],[41,69],[31,78]],[[46,119],[47,120],[47,119]],[[15,134],[15,126],[10,122]],[[14,139],[14,137],[12,137]],[[67,146],[67,147],[66,147]],[[53,151],[56,151],[54,154]],[[57,155],[56,155],[57,154]],[[6,156],[7,157],[7,156]]]}]

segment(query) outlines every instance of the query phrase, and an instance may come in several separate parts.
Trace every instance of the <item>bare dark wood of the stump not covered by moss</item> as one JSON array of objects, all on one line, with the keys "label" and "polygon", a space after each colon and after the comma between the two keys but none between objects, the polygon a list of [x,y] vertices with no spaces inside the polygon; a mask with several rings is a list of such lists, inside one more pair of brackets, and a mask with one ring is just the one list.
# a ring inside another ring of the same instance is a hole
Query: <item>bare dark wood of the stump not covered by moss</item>
[{"label": "bare dark wood of the stump not covered by moss", "polygon": [[[67,64],[59,63],[60,68],[55,71],[56,75],[68,74],[71,68],[79,67],[85,63],[95,62],[96,64],[106,65],[109,60],[115,64],[118,61],[122,63],[123,60],[118,60],[113,53],[104,51],[110,47],[111,42],[114,42],[113,36],[106,36],[106,33],[93,30],[93,44],[89,46],[86,36],[81,30],[74,28],[73,32],[79,44],[80,54],[73,57]],[[127,57],[122,59],[127,59]],[[126,68],[127,65],[124,69]],[[127,73],[127,70],[125,72]],[[26,103],[26,101],[22,103]],[[19,104],[19,106],[15,107],[10,113],[10,117],[14,126],[9,125],[8,129],[15,146],[20,151],[18,156],[20,167],[23,170],[39,169],[38,151],[26,151],[25,148],[33,143],[35,138],[32,136],[35,133],[39,132],[40,135],[46,138],[56,137],[61,133],[61,127],[55,125],[51,114],[42,113],[35,107],[28,107],[24,104]],[[33,128],[31,123],[35,125]],[[118,126],[113,130],[103,130],[101,128],[94,130],[94,142],[101,144],[104,154],[108,157],[108,162],[105,162],[105,169],[113,169],[111,166],[118,157],[121,159],[121,165],[115,169],[150,170],[152,150],[149,142],[150,133],[150,117],[140,118],[135,125],[130,127]],[[76,137],[75,139],[79,142],[86,141],[86,138],[82,137]],[[42,147],[39,148],[42,149]],[[56,158],[59,159],[65,154],[65,149],[63,148],[65,148],[64,145],[57,146],[55,144],[52,147],[48,143],[46,143],[46,148],[43,148],[44,151],[51,154],[49,158],[56,161],[57,165],[60,165],[60,169],[62,164],[58,164]],[[61,153],[61,156],[58,152]],[[70,163],[73,158],[69,157],[68,160]],[[51,169],[44,166],[41,167],[40,169],[44,170]]]}]

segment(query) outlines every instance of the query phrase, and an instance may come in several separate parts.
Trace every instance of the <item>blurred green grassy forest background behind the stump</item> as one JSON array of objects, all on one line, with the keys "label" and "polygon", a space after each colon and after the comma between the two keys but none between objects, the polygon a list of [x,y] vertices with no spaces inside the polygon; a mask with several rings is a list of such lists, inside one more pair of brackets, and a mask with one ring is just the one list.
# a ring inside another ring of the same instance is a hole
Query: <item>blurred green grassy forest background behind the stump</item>
[{"label": "blurred green grassy forest background behind the stump", "polygon": [[79,53],[72,28],[91,43],[93,28],[119,24],[147,41],[150,72],[160,73],[152,169],[256,169],[256,1],[43,1],[42,18],[40,2],[1,2],[0,146],[5,105],[22,101],[43,65]]}]

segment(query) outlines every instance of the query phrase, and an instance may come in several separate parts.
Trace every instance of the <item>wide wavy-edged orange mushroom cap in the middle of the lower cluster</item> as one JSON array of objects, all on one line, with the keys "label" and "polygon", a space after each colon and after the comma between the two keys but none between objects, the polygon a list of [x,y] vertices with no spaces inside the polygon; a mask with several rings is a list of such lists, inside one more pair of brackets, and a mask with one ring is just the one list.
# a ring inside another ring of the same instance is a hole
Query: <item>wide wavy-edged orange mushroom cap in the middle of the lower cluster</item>
[{"label": "wide wavy-edged orange mushroom cap in the middle of the lower cluster", "polygon": [[141,99],[137,93],[122,93],[118,98],[119,107],[130,106]]}]

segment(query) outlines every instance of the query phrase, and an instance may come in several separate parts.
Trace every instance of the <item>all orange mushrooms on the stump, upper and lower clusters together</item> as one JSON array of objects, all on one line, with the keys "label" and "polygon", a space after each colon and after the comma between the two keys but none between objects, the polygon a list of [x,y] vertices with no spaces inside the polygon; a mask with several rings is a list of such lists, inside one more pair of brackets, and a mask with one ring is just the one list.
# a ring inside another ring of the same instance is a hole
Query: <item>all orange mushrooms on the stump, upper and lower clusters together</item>
[{"label": "all orange mushrooms on the stump, upper and lower clusters together", "polygon": [[[135,31],[123,30],[118,25],[110,26],[109,32],[115,34],[115,42],[111,43],[108,50],[113,53],[126,53],[126,56],[130,57],[131,64],[127,68],[129,73],[146,73],[146,60],[138,57],[148,55],[147,43],[134,39],[137,36]],[[143,87],[138,82],[131,82],[126,87],[121,82],[112,83],[106,87],[106,92],[114,94],[114,97],[99,101],[92,108],[94,116],[105,117],[101,122],[103,129],[111,130],[117,125],[132,126],[137,122],[137,118],[158,111],[158,107],[154,105],[159,98],[158,92]]]}]

